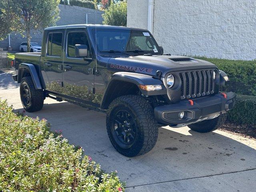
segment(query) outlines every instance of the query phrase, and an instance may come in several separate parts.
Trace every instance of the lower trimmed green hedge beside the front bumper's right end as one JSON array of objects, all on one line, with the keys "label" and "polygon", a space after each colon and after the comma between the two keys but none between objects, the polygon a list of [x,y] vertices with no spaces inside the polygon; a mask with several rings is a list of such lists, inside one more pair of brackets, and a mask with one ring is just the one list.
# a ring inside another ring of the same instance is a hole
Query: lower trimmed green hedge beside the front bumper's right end
[{"label": "lower trimmed green hedge beside the front bumper's right end", "polygon": [[237,95],[234,108],[228,112],[228,120],[240,124],[256,125],[256,97]]}]

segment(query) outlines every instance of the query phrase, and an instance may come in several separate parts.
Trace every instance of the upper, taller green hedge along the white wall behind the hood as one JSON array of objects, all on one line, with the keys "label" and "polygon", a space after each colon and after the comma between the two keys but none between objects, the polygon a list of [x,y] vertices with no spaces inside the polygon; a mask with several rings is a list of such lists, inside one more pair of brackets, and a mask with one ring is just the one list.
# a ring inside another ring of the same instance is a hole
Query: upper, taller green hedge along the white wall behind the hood
[{"label": "upper, taller green hedge along the white wall behind the hood", "polygon": [[196,56],[194,58],[211,62],[226,72],[230,79],[228,85],[225,86],[226,91],[256,96],[256,60],[227,60]]}]

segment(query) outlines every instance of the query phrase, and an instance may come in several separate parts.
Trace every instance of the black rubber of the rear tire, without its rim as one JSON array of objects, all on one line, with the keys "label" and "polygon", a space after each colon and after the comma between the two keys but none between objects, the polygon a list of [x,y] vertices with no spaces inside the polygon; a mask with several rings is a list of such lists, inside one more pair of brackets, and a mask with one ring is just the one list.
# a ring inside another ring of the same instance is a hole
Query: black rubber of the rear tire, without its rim
[{"label": "black rubber of the rear tire, without its rim", "polygon": [[[26,76],[22,78],[20,81],[20,85],[26,82],[28,84],[30,95],[31,95],[31,106],[29,108],[26,108],[26,106],[23,107],[27,112],[36,112],[40,111],[43,108],[44,105],[44,92],[43,90],[37,90],[34,86],[34,82],[32,80],[31,76]],[[21,94],[21,87],[20,87],[20,94]]]}]

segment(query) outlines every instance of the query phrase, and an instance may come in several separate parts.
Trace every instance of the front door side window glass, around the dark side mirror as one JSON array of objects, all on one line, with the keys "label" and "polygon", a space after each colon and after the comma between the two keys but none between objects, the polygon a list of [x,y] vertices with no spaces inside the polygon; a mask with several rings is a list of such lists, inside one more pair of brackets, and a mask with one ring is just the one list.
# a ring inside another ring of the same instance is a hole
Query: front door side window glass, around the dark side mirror
[{"label": "front door side window glass, around the dark side mirror", "polygon": [[88,38],[85,32],[69,32],[68,33],[68,41],[67,41],[67,56],[68,57],[76,57],[75,55],[75,45],[87,45],[88,49],[88,57],[91,57],[90,45],[88,42]]}]

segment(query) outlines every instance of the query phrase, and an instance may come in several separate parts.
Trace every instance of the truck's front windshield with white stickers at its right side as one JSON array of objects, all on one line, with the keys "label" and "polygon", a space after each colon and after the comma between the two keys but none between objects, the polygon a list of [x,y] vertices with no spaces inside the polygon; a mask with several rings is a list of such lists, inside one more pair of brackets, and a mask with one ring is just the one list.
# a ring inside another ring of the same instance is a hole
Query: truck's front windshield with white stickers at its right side
[{"label": "truck's front windshield with white stickers at its right side", "polygon": [[[93,29],[99,52],[129,52],[129,54],[161,54],[159,46],[146,31]],[[97,39],[96,39],[97,38]]]}]

